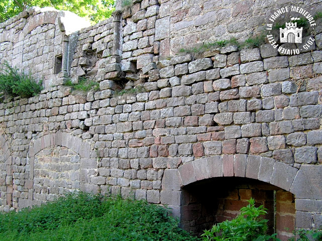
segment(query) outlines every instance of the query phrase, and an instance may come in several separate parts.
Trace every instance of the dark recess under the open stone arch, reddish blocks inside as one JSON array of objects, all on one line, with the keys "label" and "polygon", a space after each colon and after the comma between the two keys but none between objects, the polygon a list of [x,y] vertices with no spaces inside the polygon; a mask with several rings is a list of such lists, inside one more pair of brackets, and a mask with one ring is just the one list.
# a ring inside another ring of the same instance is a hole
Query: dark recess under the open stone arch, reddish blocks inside
[{"label": "dark recess under the open stone arch, reddish blocks inside", "polygon": [[294,195],[263,181],[245,177],[216,177],[191,183],[183,188],[189,202],[182,206],[182,227],[200,235],[215,223],[231,220],[253,197],[268,214],[268,233],[288,240],[295,228]]}]

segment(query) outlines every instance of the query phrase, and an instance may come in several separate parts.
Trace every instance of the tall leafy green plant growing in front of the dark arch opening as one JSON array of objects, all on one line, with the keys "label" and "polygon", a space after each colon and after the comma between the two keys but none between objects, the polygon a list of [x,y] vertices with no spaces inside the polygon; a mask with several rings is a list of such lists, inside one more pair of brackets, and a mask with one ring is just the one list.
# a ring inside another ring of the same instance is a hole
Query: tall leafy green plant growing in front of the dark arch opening
[{"label": "tall leafy green plant growing in front of the dark arch opening", "polygon": [[240,214],[232,219],[215,224],[201,235],[204,241],[265,241],[277,240],[276,234],[269,235],[267,219],[260,216],[267,214],[263,205],[255,207],[251,198],[246,207],[240,208]]}]

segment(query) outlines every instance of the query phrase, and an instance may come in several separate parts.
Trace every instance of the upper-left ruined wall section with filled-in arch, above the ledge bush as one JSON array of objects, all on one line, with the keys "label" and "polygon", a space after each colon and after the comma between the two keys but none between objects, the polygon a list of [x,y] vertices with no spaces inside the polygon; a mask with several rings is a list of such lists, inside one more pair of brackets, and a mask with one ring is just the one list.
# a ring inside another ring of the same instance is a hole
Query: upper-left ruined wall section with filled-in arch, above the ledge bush
[{"label": "upper-left ruined wall section with filled-in arch, above the ledge bush", "polygon": [[55,9],[32,8],[0,24],[1,64],[7,61],[35,79],[42,79],[45,88],[55,86],[59,78],[55,73],[55,60],[63,54],[64,36],[58,18],[81,19],[73,15]]}]

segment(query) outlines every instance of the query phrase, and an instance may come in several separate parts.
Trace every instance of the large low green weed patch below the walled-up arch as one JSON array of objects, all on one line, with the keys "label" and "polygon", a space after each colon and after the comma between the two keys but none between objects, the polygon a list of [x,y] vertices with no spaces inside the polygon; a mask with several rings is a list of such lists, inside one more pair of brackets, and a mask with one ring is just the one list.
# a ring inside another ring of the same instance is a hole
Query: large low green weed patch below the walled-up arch
[{"label": "large low green weed patch below the walled-up arch", "polygon": [[198,240],[163,207],[146,201],[69,194],[18,213],[0,214],[0,240]]}]

